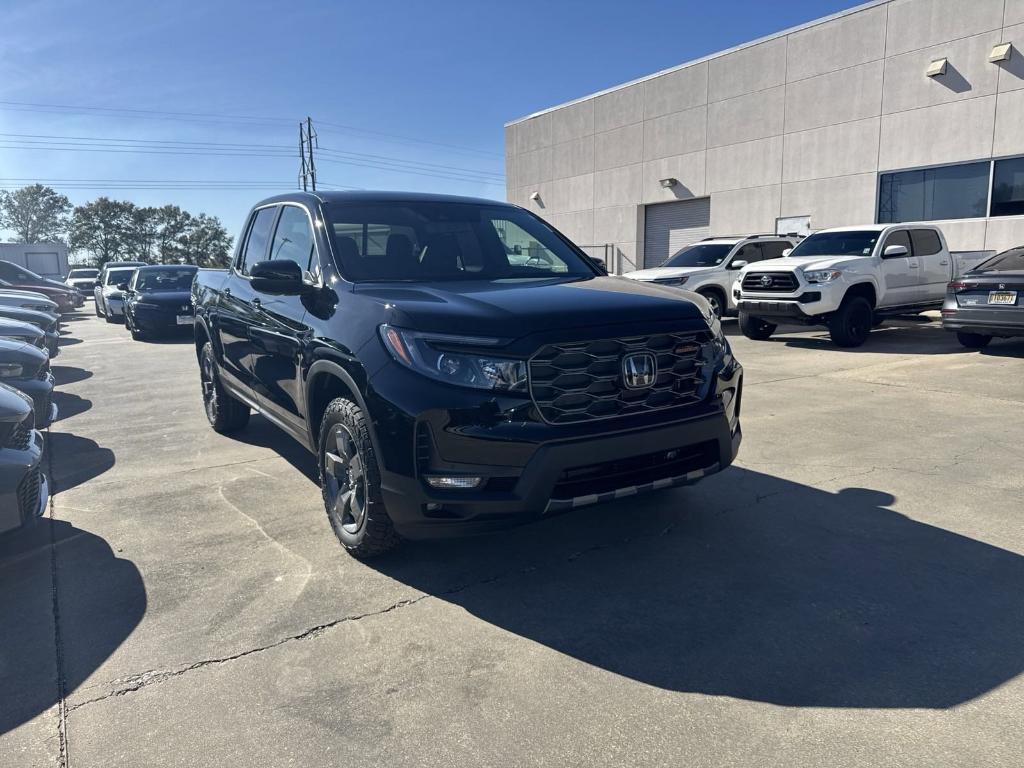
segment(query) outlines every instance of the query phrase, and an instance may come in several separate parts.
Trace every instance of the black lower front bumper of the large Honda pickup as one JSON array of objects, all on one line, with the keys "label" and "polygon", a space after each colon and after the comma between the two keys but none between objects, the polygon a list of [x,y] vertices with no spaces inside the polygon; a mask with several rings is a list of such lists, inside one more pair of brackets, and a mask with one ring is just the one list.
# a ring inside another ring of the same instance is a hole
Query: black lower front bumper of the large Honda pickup
[{"label": "black lower front bumper of the large Honda pickup", "polygon": [[[463,536],[695,482],[729,466],[742,439],[741,367],[732,361],[715,382],[703,402],[654,414],[643,426],[616,430],[616,420],[608,420],[589,425],[597,427],[593,434],[568,437],[546,425],[467,423],[474,420],[465,410],[439,420],[435,411],[411,425],[414,451],[383,438],[385,507],[403,537]],[[375,422],[382,426],[379,417]],[[429,473],[480,476],[483,483],[471,490],[428,486],[416,457],[431,455]]]}]

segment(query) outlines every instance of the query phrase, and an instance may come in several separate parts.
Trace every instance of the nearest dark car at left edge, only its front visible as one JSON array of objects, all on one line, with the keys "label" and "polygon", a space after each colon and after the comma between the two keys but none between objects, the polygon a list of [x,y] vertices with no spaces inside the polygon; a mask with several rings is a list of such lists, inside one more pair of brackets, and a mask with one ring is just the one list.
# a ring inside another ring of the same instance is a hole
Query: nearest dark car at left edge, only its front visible
[{"label": "nearest dark car at left edge, only its front visible", "polygon": [[0,534],[42,516],[49,486],[42,470],[43,436],[35,428],[32,400],[0,384]]}]

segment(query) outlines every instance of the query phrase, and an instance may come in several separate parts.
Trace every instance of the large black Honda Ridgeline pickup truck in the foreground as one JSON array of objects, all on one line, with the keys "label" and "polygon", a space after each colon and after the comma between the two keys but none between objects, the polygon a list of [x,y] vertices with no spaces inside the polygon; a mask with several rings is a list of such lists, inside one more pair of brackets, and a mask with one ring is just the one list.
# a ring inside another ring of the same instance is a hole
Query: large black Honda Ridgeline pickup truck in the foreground
[{"label": "large black Honda Ridgeline pickup truck in the foreground", "polygon": [[213,428],[256,410],[312,451],[359,557],[693,482],[739,446],[707,302],[608,276],[516,206],[271,198],[193,301]]}]

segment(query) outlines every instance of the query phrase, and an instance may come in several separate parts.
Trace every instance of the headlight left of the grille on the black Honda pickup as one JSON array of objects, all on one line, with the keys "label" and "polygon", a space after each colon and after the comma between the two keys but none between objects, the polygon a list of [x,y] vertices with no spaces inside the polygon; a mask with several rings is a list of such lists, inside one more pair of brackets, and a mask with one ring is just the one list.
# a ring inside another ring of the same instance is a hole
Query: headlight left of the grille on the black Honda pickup
[{"label": "headlight left of the grille on the black Honda pickup", "polygon": [[380,327],[380,334],[391,356],[418,374],[474,389],[526,391],[525,360],[457,349],[486,346],[496,343],[495,339],[425,334],[387,325]]}]

